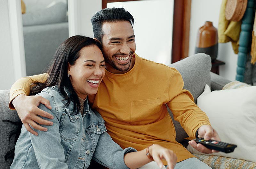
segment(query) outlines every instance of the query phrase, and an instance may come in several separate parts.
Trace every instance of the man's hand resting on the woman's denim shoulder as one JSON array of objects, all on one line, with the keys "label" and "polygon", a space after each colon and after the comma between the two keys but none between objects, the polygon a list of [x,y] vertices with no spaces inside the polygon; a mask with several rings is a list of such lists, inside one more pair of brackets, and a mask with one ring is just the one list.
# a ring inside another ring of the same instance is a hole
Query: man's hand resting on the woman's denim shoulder
[{"label": "man's hand resting on the woman's denim shoulder", "polygon": [[38,133],[31,129],[31,127],[41,131],[47,131],[47,128],[44,128],[38,124],[47,126],[53,125],[51,121],[44,120],[37,116],[40,115],[53,119],[52,114],[38,108],[40,103],[44,104],[47,108],[52,109],[49,100],[44,99],[42,96],[26,96],[25,94],[20,94],[12,100],[12,104],[15,107],[25,128],[36,136],[38,136]]}]

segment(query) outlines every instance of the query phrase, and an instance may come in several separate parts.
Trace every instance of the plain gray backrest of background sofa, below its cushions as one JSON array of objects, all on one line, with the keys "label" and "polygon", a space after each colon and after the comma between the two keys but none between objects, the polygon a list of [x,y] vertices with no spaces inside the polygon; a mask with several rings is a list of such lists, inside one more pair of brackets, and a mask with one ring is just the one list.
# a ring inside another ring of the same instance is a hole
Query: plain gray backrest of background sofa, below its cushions
[{"label": "plain gray backrest of background sofa, below its cushions", "polygon": [[23,26],[27,76],[44,73],[58,46],[68,38],[68,22]]}]

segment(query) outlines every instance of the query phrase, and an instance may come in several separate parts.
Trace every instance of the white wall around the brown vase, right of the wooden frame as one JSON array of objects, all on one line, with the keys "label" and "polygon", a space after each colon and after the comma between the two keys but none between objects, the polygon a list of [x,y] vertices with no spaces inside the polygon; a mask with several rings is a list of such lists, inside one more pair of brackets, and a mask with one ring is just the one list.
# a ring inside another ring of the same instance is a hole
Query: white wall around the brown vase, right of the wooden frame
[{"label": "white wall around the brown vase, right of the wooden frame", "polygon": [[[205,21],[212,21],[213,26],[218,28],[221,2],[222,0],[192,0],[189,56],[195,53],[197,31]],[[219,43],[217,60],[225,62],[225,65],[220,66],[220,76],[235,80],[237,54],[234,53],[231,42]]]}]

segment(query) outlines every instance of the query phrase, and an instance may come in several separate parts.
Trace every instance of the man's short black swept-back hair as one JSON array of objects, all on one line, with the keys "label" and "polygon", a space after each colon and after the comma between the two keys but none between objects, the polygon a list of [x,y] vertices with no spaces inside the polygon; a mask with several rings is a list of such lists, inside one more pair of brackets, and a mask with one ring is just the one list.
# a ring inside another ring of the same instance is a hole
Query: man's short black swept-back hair
[{"label": "man's short black swept-back hair", "polygon": [[133,26],[134,19],[130,12],[124,8],[105,8],[92,17],[92,30],[94,37],[102,43],[102,24],[104,22],[128,21]]}]

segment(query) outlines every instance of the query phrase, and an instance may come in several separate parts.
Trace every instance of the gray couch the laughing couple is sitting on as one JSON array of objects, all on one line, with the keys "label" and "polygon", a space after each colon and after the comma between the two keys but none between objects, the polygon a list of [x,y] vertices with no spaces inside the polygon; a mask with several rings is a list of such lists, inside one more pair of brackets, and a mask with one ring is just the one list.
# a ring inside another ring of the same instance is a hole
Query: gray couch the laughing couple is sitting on
[{"label": "gray couch the laughing couple is sitting on", "polygon": [[[177,70],[180,71],[183,80],[184,80],[184,88],[188,89],[194,99],[195,102],[197,100],[197,97],[199,95],[201,95],[201,93],[204,91],[204,87],[206,84],[208,84],[209,86],[211,86],[212,90],[221,90],[222,87],[228,83],[230,83],[230,81],[228,79],[225,79],[223,77],[220,77],[217,74],[214,74],[212,72],[210,72],[211,70],[211,57],[209,55],[205,55],[205,54],[196,54],[193,56],[189,56],[179,62],[176,63],[172,63],[171,65],[168,65],[171,67],[175,67]],[[12,159],[9,159],[7,161],[4,160],[4,155],[6,154],[7,151],[9,151],[10,149],[14,148],[14,136],[12,136],[10,138],[10,141],[8,141],[8,133],[10,131],[12,131],[13,129],[16,129],[17,127],[11,123],[8,122],[3,122],[2,120],[12,120],[12,121],[18,121],[19,117],[17,115],[17,112],[15,110],[10,110],[8,108],[8,103],[9,103],[9,92],[10,90],[1,90],[0,91],[0,145],[1,145],[1,151],[0,151],[0,168],[3,169],[7,169],[10,167],[11,163],[12,163]],[[172,119],[173,119],[173,115],[171,113],[171,111],[169,110],[169,114],[171,115]],[[183,139],[188,137],[188,135],[186,134],[186,132],[181,128],[180,123],[175,121],[173,119],[173,123],[176,129],[176,140],[178,142],[183,143],[184,146],[187,146],[185,142],[183,142]],[[230,159],[232,159],[233,161],[230,162],[229,165],[234,164],[234,161],[238,161],[238,159],[233,159],[233,158],[222,158],[221,160],[219,158],[219,156],[204,156],[204,155],[199,155],[199,154],[195,154],[196,156],[198,156],[198,158],[202,161],[204,161],[206,164],[208,165],[216,165],[216,163],[224,163],[224,161],[228,161]],[[205,158],[207,157],[212,157],[212,159],[214,161],[207,161],[205,160]],[[215,159],[216,158],[216,159]],[[247,162],[245,160],[242,160],[243,162]],[[250,163],[250,162],[248,162]],[[252,166],[255,167],[252,167]],[[91,168],[98,168],[98,167],[91,167]],[[224,169],[224,168],[235,168],[235,167],[213,167],[212,168],[220,168],[220,169]],[[246,165],[239,167],[239,168],[244,168],[244,169],[249,169],[249,167],[247,167]],[[256,168],[256,164],[255,163],[250,163],[250,169]]]}]

